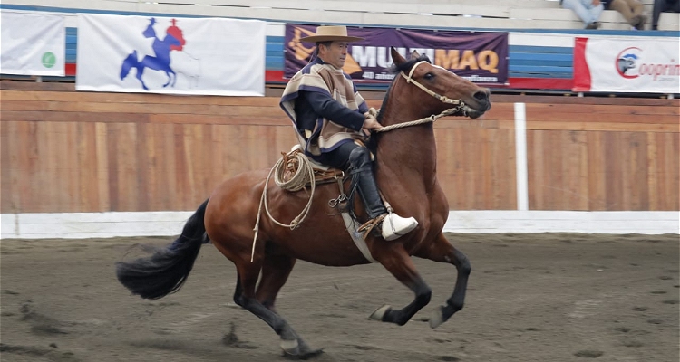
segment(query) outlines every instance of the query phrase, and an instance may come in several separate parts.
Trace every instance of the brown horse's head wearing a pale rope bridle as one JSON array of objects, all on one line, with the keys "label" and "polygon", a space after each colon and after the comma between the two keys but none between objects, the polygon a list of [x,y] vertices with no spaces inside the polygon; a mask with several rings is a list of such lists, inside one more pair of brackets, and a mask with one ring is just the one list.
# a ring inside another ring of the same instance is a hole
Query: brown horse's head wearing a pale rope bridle
[{"label": "brown horse's head wearing a pale rope bridle", "polygon": [[404,95],[412,98],[410,102],[416,102],[432,113],[451,109],[462,101],[461,111],[456,114],[467,115],[472,119],[480,117],[491,108],[489,89],[481,88],[451,71],[432,65],[426,56],[421,56],[418,52],[413,52],[409,60],[403,58],[394,48],[391,52],[393,71],[398,73],[397,77],[413,83],[413,91]]}]

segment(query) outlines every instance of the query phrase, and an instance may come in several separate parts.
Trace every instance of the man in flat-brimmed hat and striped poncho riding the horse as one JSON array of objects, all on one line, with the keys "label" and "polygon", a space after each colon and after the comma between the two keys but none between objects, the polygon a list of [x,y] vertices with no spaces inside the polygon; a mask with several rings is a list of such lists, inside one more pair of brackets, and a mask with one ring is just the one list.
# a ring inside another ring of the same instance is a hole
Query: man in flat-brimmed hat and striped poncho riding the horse
[{"label": "man in flat-brimmed hat and striped poncho riding the horse", "polygon": [[316,34],[300,41],[316,43],[312,60],[288,81],[280,105],[296,126],[307,157],[356,177],[366,214],[384,240],[411,232],[413,217],[388,213],[375,183],[371,152],[364,146],[370,129],[380,123],[368,112],[364,98],[343,71],[349,43],[363,38],[347,36],[345,26],[319,26]]}]

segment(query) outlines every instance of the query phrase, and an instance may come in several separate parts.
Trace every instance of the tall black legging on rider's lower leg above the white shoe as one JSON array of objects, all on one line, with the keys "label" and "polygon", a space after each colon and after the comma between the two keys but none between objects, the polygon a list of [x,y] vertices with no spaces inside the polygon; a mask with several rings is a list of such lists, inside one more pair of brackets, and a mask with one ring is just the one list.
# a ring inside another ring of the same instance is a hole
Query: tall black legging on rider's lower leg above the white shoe
[{"label": "tall black legging on rider's lower leg above the white shoe", "polygon": [[[380,198],[378,186],[373,175],[371,165],[371,154],[367,148],[357,147],[349,154],[349,166],[351,167],[353,178],[356,177],[356,185],[364,202],[366,214],[370,219],[374,219],[382,214],[387,214],[383,200]],[[354,181],[353,181],[354,183]]]}]

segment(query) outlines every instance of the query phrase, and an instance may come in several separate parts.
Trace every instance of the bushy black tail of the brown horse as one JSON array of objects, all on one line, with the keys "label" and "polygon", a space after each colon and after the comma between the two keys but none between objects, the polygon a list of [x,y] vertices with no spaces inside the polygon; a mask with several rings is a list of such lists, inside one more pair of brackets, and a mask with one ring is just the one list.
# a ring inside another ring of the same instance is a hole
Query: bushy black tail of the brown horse
[{"label": "bushy black tail of the brown horse", "polygon": [[116,262],[118,281],[134,295],[156,300],[179,291],[199,256],[200,246],[208,243],[204,224],[208,200],[189,217],[180,237],[146,258]]}]

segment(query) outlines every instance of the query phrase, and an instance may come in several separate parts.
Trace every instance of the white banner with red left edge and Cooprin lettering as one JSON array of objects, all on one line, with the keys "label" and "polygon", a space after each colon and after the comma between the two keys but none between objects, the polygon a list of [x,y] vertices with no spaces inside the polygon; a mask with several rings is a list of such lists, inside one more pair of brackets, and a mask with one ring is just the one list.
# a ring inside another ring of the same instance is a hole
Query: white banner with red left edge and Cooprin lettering
[{"label": "white banner with red left edge and Cooprin lettering", "polygon": [[680,93],[677,38],[576,38],[574,91]]}]

